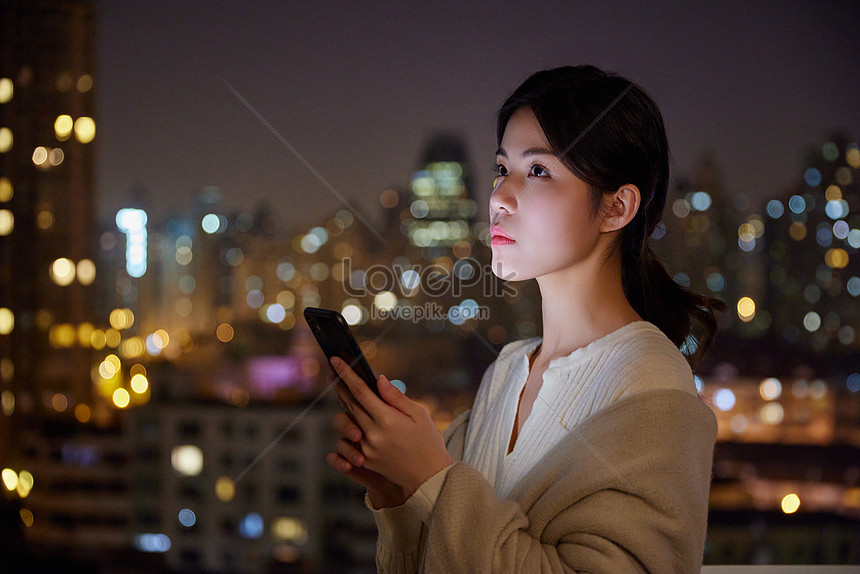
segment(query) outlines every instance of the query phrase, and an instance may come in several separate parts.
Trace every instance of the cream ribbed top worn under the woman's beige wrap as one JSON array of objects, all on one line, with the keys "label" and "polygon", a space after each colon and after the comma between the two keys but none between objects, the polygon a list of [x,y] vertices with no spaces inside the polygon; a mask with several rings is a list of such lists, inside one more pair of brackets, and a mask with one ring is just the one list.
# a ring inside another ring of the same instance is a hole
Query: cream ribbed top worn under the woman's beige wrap
[{"label": "cream ribbed top worn under the woman's beige wrap", "polygon": [[621,397],[653,389],[696,395],[693,373],[678,348],[652,323],[635,321],[550,362],[532,412],[507,454],[529,356],[540,342],[527,339],[502,349],[484,374],[466,434],[463,460],[502,498],[569,429]]}]

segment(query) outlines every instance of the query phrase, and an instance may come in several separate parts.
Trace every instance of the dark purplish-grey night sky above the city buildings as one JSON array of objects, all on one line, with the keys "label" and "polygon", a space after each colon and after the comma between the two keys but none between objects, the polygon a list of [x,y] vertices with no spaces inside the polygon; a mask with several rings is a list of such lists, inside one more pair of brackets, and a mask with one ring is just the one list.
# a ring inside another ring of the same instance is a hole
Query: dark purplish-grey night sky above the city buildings
[{"label": "dark purplish-grey night sky above the city buildings", "polygon": [[675,175],[712,152],[730,193],[780,197],[809,149],[836,131],[860,138],[858,2],[101,0],[97,11],[106,219],[132,204],[188,212],[208,185],[227,211],[268,202],[288,224],[340,207],[227,83],[371,218],[442,130],[467,142],[484,213],[496,108],[530,73],[564,64],[642,84],[665,116]]}]

